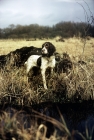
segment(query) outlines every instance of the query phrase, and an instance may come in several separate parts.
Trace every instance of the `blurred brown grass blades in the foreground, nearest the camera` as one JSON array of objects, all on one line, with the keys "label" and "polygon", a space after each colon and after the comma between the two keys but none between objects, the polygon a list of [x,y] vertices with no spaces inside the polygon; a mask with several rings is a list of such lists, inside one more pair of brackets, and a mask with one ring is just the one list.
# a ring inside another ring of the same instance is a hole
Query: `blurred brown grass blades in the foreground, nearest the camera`
[{"label": "blurred brown grass blades in the foreground, nearest the camera", "polygon": [[[59,115],[61,121],[35,110],[32,110],[31,115],[12,108],[0,111],[0,140],[75,140],[77,135],[83,140],[92,139],[93,130],[89,134],[86,127],[85,135],[77,130],[70,132],[60,111]],[[47,136],[49,128],[46,122],[50,122],[55,128],[50,136]]]}]

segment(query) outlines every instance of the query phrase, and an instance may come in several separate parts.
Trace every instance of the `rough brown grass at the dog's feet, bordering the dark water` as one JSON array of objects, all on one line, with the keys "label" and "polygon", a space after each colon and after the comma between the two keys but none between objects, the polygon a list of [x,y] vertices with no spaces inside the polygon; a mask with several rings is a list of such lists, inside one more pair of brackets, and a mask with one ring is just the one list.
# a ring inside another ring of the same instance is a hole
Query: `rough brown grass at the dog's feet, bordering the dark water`
[{"label": "rough brown grass at the dog's feet, bordering the dark water", "polygon": [[32,105],[45,101],[66,102],[94,99],[94,65],[75,63],[68,73],[46,75],[48,89],[43,88],[41,74],[27,83],[24,68],[1,70],[0,103]]}]

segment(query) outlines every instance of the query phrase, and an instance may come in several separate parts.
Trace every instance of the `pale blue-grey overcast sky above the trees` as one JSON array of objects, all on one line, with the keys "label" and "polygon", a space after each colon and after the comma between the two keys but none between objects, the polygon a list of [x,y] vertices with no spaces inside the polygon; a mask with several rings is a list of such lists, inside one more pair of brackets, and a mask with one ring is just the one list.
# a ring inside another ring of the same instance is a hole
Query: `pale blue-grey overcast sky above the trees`
[{"label": "pale blue-grey overcast sky above the trees", "polygon": [[85,22],[80,4],[88,16],[90,12],[94,15],[94,0],[0,0],[0,28],[10,24],[52,26],[61,21]]}]

